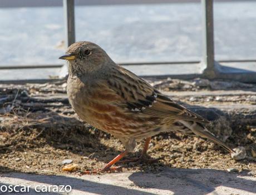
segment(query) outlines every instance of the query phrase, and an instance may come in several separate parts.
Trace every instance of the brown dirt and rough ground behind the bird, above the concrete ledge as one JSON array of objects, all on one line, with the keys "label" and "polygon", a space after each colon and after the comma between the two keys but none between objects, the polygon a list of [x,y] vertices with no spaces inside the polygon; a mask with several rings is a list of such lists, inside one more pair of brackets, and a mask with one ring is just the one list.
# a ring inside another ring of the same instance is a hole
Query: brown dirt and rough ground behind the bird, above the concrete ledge
[{"label": "brown dirt and rough ground behind the bird, above the concrete ledge", "polygon": [[[176,87],[175,82],[178,83]],[[200,82],[203,81],[151,80],[152,85],[164,91],[171,90],[174,95],[175,91],[216,90],[211,89],[211,86],[224,89],[223,83],[220,87],[220,81],[215,85],[211,84],[211,81],[204,81],[207,85]],[[169,84],[171,87],[168,87]],[[255,85],[234,83],[229,84],[226,90],[233,88],[254,91]],[[214,107],[217,104],[225,104],[232,107],[245,104],[250,107],[255,104],[255,97],[253,93],[223,96],[184,95],[176,100],[185,105],[211,104]],[[229,146],[244,146],[247,158],[235,161],[222,148],[211,142],[178,133],[166,133],[152,137],[148,152],[150,158],[164,160],[152,164],[126,163],[119,165],[122,170],[158,172],[164,167],[218,170],[235,168],[237,171],[248,172],[256,170],[255,112],[225,112],[216,109],[210,110],[209,113],[204,112],[204,109],[195,111],[203,113],[213,121],[212,130],[226,140]],[[102,168],[104,163],[124,150],[116,138],[78,119],[68,104],[65,83],[1,85],[0,113],[1,172],[63,174],[66,172],[62,171],[62,161],[66,159],[76,163],[78,171],[91,170]],[[143,143],[144,140],[138,141],[135,152],[127,158],[139,156]]]}]

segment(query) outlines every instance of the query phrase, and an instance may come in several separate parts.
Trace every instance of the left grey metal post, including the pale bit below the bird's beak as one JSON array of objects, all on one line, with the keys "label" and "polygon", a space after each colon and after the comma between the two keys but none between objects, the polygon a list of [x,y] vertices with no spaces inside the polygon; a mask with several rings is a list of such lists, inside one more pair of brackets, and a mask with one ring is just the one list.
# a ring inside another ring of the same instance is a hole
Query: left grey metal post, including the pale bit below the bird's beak
[{"label": "left grey metal post, including the pale bit below the bird's beak", "polygon": [[[74,0],[63,0],[65,47],[75,43],[75,4]],[[60,71],[60,78],[67,79],[68,65],[65,63]]]}]

